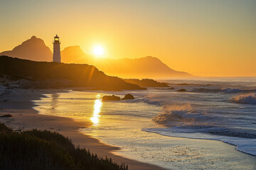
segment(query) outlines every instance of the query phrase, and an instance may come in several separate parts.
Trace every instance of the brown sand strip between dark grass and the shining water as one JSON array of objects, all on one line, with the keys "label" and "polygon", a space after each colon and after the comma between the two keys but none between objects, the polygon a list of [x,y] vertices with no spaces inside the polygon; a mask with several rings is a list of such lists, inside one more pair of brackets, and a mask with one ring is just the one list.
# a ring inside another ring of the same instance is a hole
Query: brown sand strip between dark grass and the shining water
[{"label": "brown sand strip between dark grass and the shining water", "polygon": [[128,164],[129,169],[164,169],[160,166],[138,162],[134,159],[127,159],[112,152],[118,151],[119,147],[106,145],[90,135],[79,132],[80,127],[90,126],[90,122],[75,121],[73,118],[64,118],[53,115],[38,114],[33,109],[33,100],[38,100],[43,94],[55,94],[63,90],[35,90],[35,89],[6,89],[0,96],[0,114],[11,114],[11,118],[0,118],[0,123],[13,128],[14,130],[50,130],[60,132],[72,140],[73,144],[79,147],[90,149],[90,152],[100,157],[109,157],[118,164]]}]

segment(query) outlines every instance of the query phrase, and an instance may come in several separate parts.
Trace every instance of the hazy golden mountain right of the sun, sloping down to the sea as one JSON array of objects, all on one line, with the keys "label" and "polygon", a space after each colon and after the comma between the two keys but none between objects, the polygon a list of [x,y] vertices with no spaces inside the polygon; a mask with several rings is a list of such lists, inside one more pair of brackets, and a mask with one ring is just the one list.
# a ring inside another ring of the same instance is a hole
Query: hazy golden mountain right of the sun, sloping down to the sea
[{"label": "hazy golden mountain right of the sun, sloping down to the sea", "polygon": [[168,78],[168,77],[191,77],[186,72],[177,72],[156,57],[142,57],[136,59],[101,60],[96,62],[98,69],[118,77],[128,78]]}]

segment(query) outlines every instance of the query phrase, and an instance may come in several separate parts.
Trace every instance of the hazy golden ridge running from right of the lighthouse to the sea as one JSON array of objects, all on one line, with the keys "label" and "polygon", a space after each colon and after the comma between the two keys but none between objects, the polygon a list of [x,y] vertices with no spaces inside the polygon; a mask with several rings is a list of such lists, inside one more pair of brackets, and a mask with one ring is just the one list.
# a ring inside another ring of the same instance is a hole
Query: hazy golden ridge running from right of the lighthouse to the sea
[{"label": "hazy golden ridge running from right of the lighthouse to the sea", "polygon": [[[82,52],[80,47],[67,47],[61,52],[62,56],[65,56],[66,60],[63,62],[72,63],[75,59],[80,63],[93,64],[98,69],[102,70],[106,74],[125,78],[168,78],[168,77],[191,77],[191,74],[186,72],[178,72],[171,69],[166,64],[161,62],[156,57],[142,57],[136,59],[100,59],[95,60],[90,55],[86,55]],[[82,60],[81,60],[82,58]]]}]

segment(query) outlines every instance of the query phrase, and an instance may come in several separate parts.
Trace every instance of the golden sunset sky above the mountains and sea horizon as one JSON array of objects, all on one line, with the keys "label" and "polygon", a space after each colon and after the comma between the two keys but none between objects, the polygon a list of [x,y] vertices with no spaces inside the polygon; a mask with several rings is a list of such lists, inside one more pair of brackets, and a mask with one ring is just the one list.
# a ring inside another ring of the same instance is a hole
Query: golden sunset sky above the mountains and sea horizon
[{"label": "golden sunset sky above the mountains and sea horizon", "polygon": [[0,52],[32,35],[53,48],[158,57],[202,77],[256,77],[255,0],[0,0]]}]

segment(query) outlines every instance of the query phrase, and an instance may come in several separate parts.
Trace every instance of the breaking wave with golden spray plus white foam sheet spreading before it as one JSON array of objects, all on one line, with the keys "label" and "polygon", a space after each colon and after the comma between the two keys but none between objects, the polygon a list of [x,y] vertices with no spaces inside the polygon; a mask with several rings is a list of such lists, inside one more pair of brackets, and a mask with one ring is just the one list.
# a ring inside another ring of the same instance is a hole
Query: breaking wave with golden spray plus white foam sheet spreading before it
[{"label": "breaking wave with golden spray plus white foam sheet spreading before it", "polygon": [[144,131],[171,137],[220,140],[237,146],[236,149],[241,152],[256,155],[256,150],[252,149],[256,147],[255,130],[225,126],[227,120],[194,109],[189,103],[163,106],[161,113],[153,120],[165,128],[145,128]]}]

